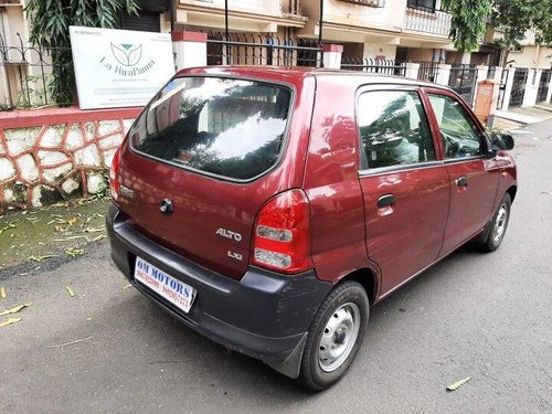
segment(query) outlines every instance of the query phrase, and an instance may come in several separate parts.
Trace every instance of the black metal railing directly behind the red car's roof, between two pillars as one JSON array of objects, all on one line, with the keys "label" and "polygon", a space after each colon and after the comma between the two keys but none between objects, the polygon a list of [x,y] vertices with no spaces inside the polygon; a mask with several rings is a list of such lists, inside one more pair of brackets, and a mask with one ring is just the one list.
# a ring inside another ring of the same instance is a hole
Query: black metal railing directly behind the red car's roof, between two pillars
[{"label": "black metal railing directly behind the red car's roof, between two pillars", "polygon": [[323,51],[315,40],[280,39],[272,35],[208,33],[208,65],[323,65]]}]

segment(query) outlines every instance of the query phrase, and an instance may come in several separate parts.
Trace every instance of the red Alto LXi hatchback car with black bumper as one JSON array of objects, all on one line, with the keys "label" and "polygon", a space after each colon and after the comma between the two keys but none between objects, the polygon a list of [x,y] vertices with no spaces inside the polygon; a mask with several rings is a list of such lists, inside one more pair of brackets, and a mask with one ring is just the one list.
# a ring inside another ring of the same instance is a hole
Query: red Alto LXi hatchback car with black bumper
[{"label": "red Alto LXi hatchback car with black bumper", "polygon": [[188,327],[322,390],[370,305],[468,241],[500,245],[512,147],[434,84],[185,70],[114,157],[112,256]]}]

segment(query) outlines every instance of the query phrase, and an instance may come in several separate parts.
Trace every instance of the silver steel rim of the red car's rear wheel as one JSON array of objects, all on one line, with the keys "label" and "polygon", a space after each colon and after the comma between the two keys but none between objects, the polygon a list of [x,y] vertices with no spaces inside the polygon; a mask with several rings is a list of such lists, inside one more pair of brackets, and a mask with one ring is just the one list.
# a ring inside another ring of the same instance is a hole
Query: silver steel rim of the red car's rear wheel
[{"label": "silver steel rim of the red car's rear wheel", "polygon": [[318,363],[322,371],[335,371],[347,360],[359,330],[360,309],[357,305],[344,304],[330,316],[318,347]]}]

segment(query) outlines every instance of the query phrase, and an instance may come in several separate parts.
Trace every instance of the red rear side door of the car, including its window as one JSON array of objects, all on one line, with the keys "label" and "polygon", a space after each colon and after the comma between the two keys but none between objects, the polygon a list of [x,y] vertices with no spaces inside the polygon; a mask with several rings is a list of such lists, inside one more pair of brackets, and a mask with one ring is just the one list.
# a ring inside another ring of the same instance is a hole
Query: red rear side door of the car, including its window
[{"label": "red rear side door of the car, including its window", "polygon": [[364,89],[357,105],[367,251],[385,295],[437,258],[448,174],[417,88]]}]

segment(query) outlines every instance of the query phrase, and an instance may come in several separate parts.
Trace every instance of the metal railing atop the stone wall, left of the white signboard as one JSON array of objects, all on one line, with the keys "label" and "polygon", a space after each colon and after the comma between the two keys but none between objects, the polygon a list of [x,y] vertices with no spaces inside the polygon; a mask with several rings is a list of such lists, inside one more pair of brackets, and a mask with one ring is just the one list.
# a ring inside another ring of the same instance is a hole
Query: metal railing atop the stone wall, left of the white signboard
[{"label": "metal railing atop the stone wall, left of the white signboard", "polygon": [[8,45],[0,36],[0,109],[72,104],[72,96],[60,98],[56,83],[60,74],[73,70],[72,63],[55,63],[71,49],[25,46],[19,33],[18,38],[19,45]]}]

